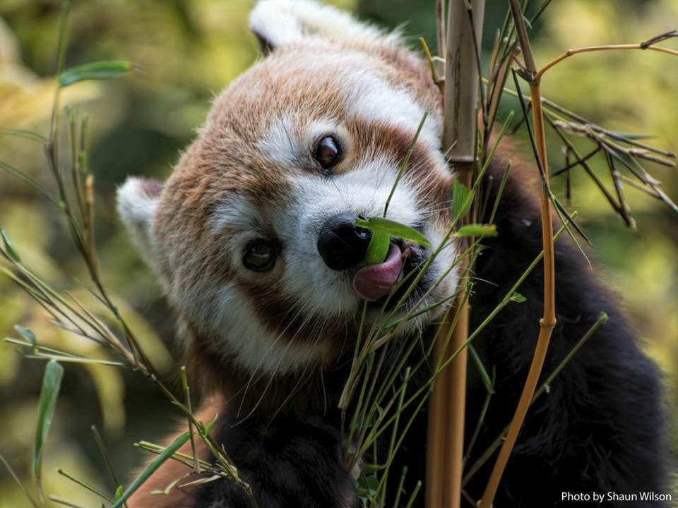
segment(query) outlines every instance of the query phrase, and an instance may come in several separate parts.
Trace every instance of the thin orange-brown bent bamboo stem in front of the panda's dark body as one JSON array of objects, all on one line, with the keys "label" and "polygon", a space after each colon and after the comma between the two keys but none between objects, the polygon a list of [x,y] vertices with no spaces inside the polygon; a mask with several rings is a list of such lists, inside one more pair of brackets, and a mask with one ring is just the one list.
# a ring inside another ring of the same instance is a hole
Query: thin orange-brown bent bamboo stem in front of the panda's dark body
[{"label": "thin orange-brown bent bamboo stem in front of the panda's dark body", "polygon": [[537,68],[533,59],[532,50],[530,49],[530,40],[528,39],[527,30],[523,21],[523,13],[518,4],[518,0],[511,1],[511,12],[513,14],[513,21],[516,24],[518,38],[521,42],[521,49],[524,55],[525,68],[532,77],[530,81],[530,97],[532,98],[532,114],[535,129],[535,145],[537,148],[537,165],[540,168],[542,177],[542,186],[540,193],[540,212],[542,221],[542,243],[544,245],[544,315],[540,320],[539,337],[537,338],[537,346],[533,356],[532,364],[528,372],[528,377],[525,380],[523,393],[521,399],[518,401],[516,412],[513,415],[513,420],[509,427],[509,432],[506,434],[506,440],[501,447],[499,456],[497,456],[494,468],[490,474],[489,481],[485,487],[480,501],[480,507],[492,507],[494,495],[499,487],[499,481],[506,468],[506,463],[509,461],[509,456],[516,444],[518,433],[523,426],[525,416],[530,407],[537,388],[537,382],[542,372],[544,360],[551,340],[551,334],[556,325],[556,310],[555,310],[555,263],[554,263],[554,248],[553,248],[553,223],[551,220],[551,199],[549,196],[549,172],[547,164],[546,152],[546,135],[544,128],[544,114],[542,111],[542,100],[540,92],[540,80],[537,75]]}]

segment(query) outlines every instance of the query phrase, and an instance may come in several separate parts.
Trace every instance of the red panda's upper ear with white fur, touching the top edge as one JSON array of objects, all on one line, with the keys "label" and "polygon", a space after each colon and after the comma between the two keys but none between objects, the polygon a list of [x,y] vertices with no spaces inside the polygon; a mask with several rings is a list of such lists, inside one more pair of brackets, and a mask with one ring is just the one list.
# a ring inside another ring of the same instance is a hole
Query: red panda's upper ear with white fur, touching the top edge
[{"label": "red panda's upper ear with white fur, touching the top edge", "polygon": [[312,0],[259,0],[249,16],[249,28],[264,52],[309,37],[352,42],[389,37],[348,13]]}]

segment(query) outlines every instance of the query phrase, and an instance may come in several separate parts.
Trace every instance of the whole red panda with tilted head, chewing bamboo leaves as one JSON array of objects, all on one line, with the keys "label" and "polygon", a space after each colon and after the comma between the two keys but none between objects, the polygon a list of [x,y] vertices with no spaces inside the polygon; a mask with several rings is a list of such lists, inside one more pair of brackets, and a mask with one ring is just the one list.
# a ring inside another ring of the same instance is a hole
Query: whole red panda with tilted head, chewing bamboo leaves
[{"label": "whole red panda with tilted head, chewing bamboo leaves", "polygon": [[[335,8],[261,0],[250,25],[267,56],[215,99],[169,179],[129,178],[119,189],[118,209],[179,317],[189,370],[200,375],[209,397],[203,419],[220,413],[213,436],[258,505],[357,507],[356,471],[340,461],[337,403],[362,302],[383,298],[398,274],[408,274],[430,249],[395,242],[384,262],[361,267],[369,235],[356,219],[383,213],[429,111],[387,217],[433,245],[442,241],[454,177],[440,149],[441,96],[427,64],[397,32]],[[500,147],[496,167],[503,167],[506,150]],[[490,185],[491,200],[498,181]],[[539,216],[527,185],[520,171],[511,174],[496,219],[499,235],[478,259],[471,299],[476,323],[540,252]],[[441,250],[409,306],[458,250],[454,242]],[[520,394],[542,312],[537,272],[521,286],[527,303],[503,310],[476,339],[495,368],[498,392],[477,450],[503,428]],[[452,295],[458,279],[451,270],[429,301]],[[610,323],[530,410],[495,506],[559,506],[567,491],[660,492],[655,367],[614,298],[567,241],[557,245],[557,286],[559,324],[545,373],[601,310]],[[441,311],[423,313],[405,333],[425,329]],[[370,306],[367,324],[376,316]],[[482,399],[484,388],[470,380],[469,421],[477,419]],[[409,483],[424,479],[425,428],[424,410],[396,458],[413,471]],[[205,449],[199,454],[209,460]],[[150,494],[186,472],[182,464],[166,463],[129,506],[249,506],[242,489],[227,480]],[[480,498],[482,478],[484,469],[466,486],[472,497]],[[631,506],[650,504],[624,503]]]}]

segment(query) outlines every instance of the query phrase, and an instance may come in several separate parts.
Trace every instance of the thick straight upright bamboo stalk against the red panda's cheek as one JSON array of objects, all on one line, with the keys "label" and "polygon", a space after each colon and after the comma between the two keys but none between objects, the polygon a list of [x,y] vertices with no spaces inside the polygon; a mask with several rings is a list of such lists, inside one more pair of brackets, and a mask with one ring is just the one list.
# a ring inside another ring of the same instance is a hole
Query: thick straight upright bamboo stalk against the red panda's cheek
[{"label": "thick straight upright bamboo stalk against the red panda's cheek", "polygon": [[[483,14],[484,0],[453,1],[448,6],[442,148],[444,152],[448,151],[450,163],[467,188],[472,186],[476,164],[480,69],[476,61],[478,49],[475,41],[481,38]],[[460,273],[465,274],[467,269],[468,258],[463,261]],[[448,321],[436,337],[436,358],[442,356],[446,360],[450,352],[460,349],[468,337],[468,301],[458,300],[456,305],[461,305],[461,309],[450,346],[448,351],[443,351],[444,339],[450,333],[451,322]],[[460,507],[466,365],[467,353],[463,349],[439,375],[429,401],[427,508]]]}]

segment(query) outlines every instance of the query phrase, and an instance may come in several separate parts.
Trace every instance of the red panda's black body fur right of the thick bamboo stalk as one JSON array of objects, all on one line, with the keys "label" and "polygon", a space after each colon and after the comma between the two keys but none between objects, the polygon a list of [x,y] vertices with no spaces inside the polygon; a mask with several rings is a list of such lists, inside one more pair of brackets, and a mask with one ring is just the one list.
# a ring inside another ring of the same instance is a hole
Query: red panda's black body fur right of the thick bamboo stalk
[{"label": "red panda's black body fur right of the thick bamboo stalk", "polygon": [[[493,191],[499,186],[495,175]],[[542,248],[535,199],[513,178],[497,214],[499,235],[477,264],[472,326],[487,315]],[[493,198],[490,198],[493,202]],[[478,337],[486,365],[496,368],[496,395],[485,418],[482,451],[513,415],[537,341],[542,315],[543,268],[540,264],[520,291],[528,301],[510,304]],[[600,285],[566,235],[556,244],[557,320],[542,380],[593,325],[601,311],[609,315],[557,377],[549,394],[528,413],[509,460],[495,507],[559,506],[561,492],[655,491],[666,493],[662,408],[658,370],[638,349],[616,298]],[[472,369],[470,365],[470,369]],[[469,392],[470,421],[484,388]],[[470,428],[468,428],[470,430]],[[468,485],[482,495],[487,470]],[[593,505],[593,504],[592,504]],[[614,502],[596,506],[661,507],[659,502]],[[587,506],[587,503],[576,503]]]}]

